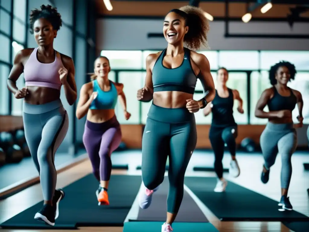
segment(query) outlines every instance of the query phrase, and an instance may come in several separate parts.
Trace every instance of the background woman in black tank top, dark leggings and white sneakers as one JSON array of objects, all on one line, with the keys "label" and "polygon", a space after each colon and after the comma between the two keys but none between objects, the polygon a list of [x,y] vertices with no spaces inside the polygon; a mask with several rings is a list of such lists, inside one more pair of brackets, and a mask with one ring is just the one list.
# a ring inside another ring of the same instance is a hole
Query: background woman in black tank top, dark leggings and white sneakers
[{"label": "background woman in black tank top, dark leggings and white sneakers", "polygon": [[222,159],[224,154],[224,144],[227,145],[231,153],[231,163],[229,173],[233,177],[240,174],[239,166],[235,158],[237,137],[237,124],[233,117],[234,100],[238,101],[237,110],[243,114],[243,100],[236,89],[226,87],[228,71],[226,68],[219,68],[217,71],[217,89],[214,100],[205,107],[204,116],[212,113],[212,123],[209,131],[209,139],[214,150],[214,170],[218,177],[215,192],[225,191],[227,182],[223,178]]}]

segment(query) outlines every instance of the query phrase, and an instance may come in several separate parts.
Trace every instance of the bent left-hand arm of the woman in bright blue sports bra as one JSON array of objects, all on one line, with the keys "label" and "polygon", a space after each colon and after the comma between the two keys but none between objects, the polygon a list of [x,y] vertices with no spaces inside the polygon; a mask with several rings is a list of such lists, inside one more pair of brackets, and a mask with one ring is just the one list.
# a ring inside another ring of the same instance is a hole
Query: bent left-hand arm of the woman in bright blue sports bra
[{"label": "bent left-hand arm of the woman in bright blue sports bra", "polygon": [[87,114],[91,102],[95,97],[96,92],[93,92],[89,97],[88,91],[87,84],[83,84],[82,88],[80,89],[78,104],[76,107],[76,118],[78,119],[83,118]]}]

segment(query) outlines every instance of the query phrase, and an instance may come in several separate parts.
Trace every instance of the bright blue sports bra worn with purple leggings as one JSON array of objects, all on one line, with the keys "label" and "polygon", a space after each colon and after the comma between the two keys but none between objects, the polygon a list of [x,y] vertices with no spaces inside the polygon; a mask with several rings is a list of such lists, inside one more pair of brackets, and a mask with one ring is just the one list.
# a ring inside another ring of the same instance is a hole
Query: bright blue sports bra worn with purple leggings
[{"label": "bright blue sports bra worn with purple leggings", "polygon": [[98,81],[95,79],[92,84],[93,84],[93,92],[97,92],[98,95],[91,102],[91,105],[89,109],[91,110],[108,110],[108,109],[115,109],[117,99],[118,99],[118,93],[116,86],[112,83],[112,81],[109,81],[111,85],[111,89],[109,91],[103,91],[100,86]]}]

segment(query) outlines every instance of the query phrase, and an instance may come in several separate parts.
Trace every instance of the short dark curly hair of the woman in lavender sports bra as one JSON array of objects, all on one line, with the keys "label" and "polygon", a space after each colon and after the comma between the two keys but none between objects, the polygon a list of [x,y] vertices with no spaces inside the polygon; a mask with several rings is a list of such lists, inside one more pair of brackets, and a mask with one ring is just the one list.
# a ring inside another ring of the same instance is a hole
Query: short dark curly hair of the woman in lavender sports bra
[{"label": "short dark curly hair of the woman in lavender sports bra", "polygon": [[30,33],[33,34],[33,24],[37,19],[47,19],[53,26],[54,30],[59,31],[62,26],[61,15],[58,13],[57,8],[51,5],[42,5],[41,9],[34,9],[30,14]]}]

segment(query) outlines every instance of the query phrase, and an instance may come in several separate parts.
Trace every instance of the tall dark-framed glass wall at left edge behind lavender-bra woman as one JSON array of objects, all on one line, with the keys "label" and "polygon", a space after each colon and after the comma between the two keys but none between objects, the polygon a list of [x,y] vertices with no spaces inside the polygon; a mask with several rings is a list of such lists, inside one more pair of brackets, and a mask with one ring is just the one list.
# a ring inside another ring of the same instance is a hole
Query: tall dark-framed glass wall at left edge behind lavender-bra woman
[{"label": "tall dark-framed glass wall at left edge behind lavender-bra woman", "polygon": [[[22,101],[15,101],[6,87],[6,80],[14,63],[16,53],[26,46],[26,0],[0,2],[0,114],[22,115]],[[23,87],[21,76],[17,85]]]}]

